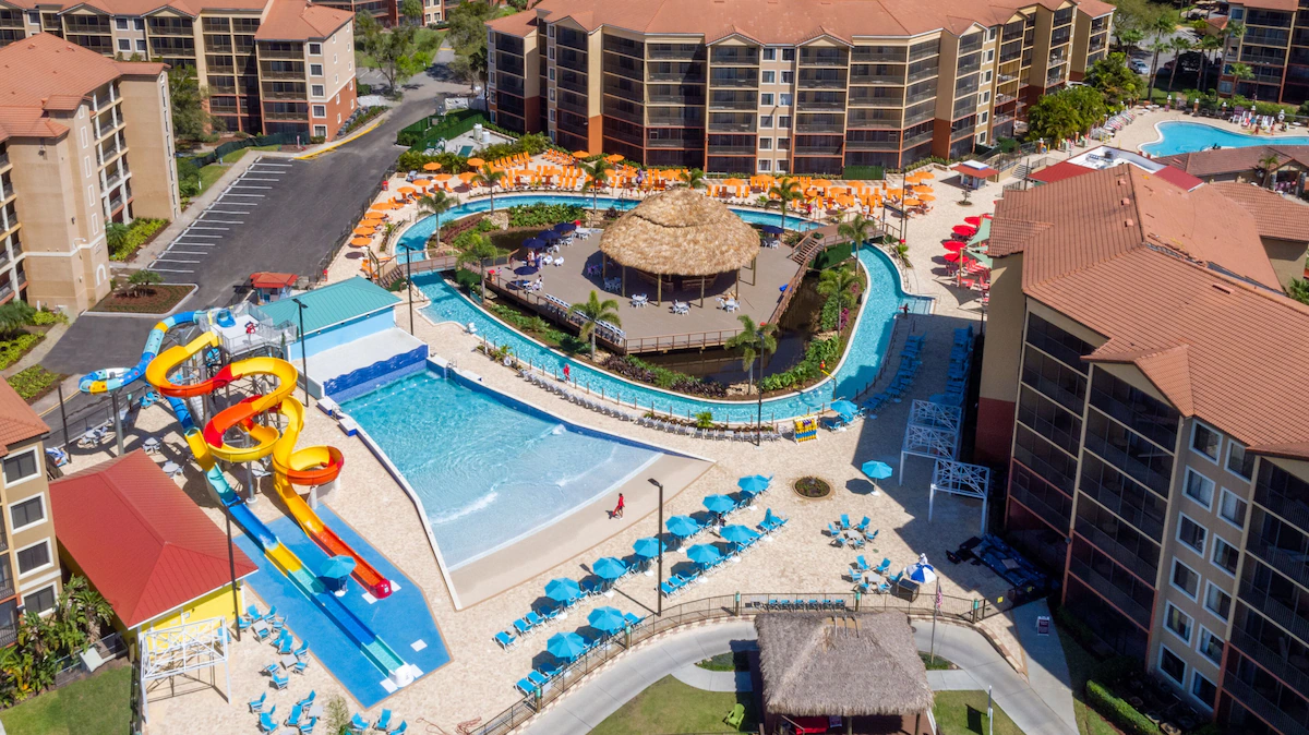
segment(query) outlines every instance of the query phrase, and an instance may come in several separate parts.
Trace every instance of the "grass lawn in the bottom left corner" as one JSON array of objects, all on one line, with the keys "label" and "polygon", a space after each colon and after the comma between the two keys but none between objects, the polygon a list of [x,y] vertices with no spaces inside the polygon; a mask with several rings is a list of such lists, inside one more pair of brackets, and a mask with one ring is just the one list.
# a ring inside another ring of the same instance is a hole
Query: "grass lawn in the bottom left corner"
[{"label": "grass lawn in the bottom left corner", "polygon": [[132,667],[118,666],[0,711],[8,735],[119,735],[131,725]]}]

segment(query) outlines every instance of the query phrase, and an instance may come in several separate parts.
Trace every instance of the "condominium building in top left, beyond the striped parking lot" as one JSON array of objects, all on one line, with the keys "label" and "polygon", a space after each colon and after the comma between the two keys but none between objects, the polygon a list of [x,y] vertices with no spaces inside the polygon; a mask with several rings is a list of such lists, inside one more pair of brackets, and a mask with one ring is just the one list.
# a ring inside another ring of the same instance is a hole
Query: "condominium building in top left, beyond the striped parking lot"
[{"label": "condominium building in top left, beyond the striped parking lot", "polygon": [[355,111],[353,17],[308,0],[0,0],[0,46],[48,33],[115,59],[187,67],[224,129],[308,143],[334,139]]}]

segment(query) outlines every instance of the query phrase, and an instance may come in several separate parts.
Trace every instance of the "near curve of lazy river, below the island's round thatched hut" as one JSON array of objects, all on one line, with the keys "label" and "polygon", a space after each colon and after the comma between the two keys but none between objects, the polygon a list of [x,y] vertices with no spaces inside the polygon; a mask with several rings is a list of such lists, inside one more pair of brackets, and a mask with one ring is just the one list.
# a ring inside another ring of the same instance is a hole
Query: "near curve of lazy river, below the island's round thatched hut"
[{"label": "near curve of lazy river, below the island's round thatched hut", "polygon": [[[886,343],[890,339],[895,311],[906,302],[920,299],[905,294],[895,265],[881,250],[865,247],[860,250],[859,260],[868,271],[868,292],[864,296],[863,311],[859,324],[855,327],[855,336],[846,350],[844,361],[831,381],[819,383],[802,394],[764,400],[763,419],[766,421],[813,413],[823,404],[831,403],[834,396],[850,398],[876,378]],[[640,408],[653,408],[660,413],[672,411],[679,416],[694,416],[702,411],[709,411],[716,421],[755,421],[758,408],[754,403],[695,399],[639,386],[596,370],[583,361],[569,360],[552,352],[491,318],[436,273],[415,276],[414,284],[432,299],[431,306],[424,309],[432,320],[458,324],[471,322],[476,324],[478,333],[492,343],[513,345],[518,360],[543,366],[555,374],[560,374],[564,364],[568,364],[579,386],[589,387],[592,392],[603,392],[606,396],[617,395],[623,403],[635,403]]]}]

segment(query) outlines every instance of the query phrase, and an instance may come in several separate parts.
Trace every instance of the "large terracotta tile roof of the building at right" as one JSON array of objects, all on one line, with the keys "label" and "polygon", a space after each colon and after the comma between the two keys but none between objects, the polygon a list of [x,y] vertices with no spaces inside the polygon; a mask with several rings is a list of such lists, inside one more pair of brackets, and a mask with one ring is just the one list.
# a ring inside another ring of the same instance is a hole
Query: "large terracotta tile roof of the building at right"
[{"label": "large terracotta tile roof of the building at right", "polygon": [[1024,292],[1107,340],[1086,360],[1131,362],[1182,413],[1309,458],[1309,340],[1288,339],[1309,306],[1228,275],[1271,279],[1253,216],[1156,180],[1117,167],[1011,192],[991,252],[1024,251]]}]

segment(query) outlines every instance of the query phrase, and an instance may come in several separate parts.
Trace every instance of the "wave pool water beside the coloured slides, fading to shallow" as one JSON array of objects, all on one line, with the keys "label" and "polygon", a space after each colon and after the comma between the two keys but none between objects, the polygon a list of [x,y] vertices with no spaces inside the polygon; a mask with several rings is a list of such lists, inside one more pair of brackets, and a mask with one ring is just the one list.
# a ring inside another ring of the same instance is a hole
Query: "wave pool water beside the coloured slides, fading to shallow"
[{"label": "wave pool water beside the coloured slides, fading to shallow", "polygon": [[584,507],[661,454],[431,371],[342,408],[423,501],[450,569]]}]

